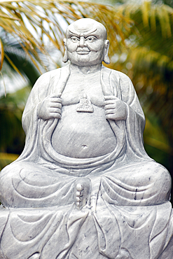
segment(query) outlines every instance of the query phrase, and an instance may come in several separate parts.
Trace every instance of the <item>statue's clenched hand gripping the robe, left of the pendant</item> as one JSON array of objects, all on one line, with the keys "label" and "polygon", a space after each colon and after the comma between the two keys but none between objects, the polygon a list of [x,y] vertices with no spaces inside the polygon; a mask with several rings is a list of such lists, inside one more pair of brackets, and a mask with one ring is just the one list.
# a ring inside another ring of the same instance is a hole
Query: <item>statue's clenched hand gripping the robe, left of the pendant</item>
[{"label": "statue's clenched hand gripping the robe, left of the pendant", "polygon": [[62,99],[61,94],[51,94],[39,105],[38,116],[42,120],[49,120],[52,118],[61,118]]}]

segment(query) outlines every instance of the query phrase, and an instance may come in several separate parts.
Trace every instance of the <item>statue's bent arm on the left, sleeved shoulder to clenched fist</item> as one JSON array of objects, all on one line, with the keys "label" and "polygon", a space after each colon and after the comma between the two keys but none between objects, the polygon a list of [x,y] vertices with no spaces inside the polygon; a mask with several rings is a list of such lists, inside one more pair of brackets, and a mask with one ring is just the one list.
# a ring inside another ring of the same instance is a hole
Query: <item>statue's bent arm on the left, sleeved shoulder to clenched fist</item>
[{"label": "statue's bent arm on the left, sleeved shoulder to clenched fist", "polygon": [[[33,127],[33,123],[38,121],[39,118],[47,120],[53,118],[53,116],[60,117],[60,94],[53,94],[54,82],[57,83],[59,78],[60,70],[55,69],[54,71],[43,73],[43,75],[36,80],[22,116],[22,126],[26,134],[29,128]],[[56,102],[58,104],[56,104]]]}]

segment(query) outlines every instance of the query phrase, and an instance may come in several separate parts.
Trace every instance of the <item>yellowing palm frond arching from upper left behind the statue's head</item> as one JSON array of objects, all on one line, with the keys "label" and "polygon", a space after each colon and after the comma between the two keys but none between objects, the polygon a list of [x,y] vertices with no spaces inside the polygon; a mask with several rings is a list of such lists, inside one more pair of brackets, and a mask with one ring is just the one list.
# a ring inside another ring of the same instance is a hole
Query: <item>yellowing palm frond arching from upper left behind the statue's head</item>
[{"label": "yellowing palm frond arching from upper left behind the statue's head", "polygon": [[[110,6],[83,1],[15,0],[1,1],[0,26],[13,35],[29,58],[40,69],[43,65],[38,51],[48,56],[46,45],[53,44],[64,52],[64,31],[67,25],[80,18],[94,18],[108,29],[116,48],[125,45],[132,21]],[[113,52],[113,47],[111,48]]]}]

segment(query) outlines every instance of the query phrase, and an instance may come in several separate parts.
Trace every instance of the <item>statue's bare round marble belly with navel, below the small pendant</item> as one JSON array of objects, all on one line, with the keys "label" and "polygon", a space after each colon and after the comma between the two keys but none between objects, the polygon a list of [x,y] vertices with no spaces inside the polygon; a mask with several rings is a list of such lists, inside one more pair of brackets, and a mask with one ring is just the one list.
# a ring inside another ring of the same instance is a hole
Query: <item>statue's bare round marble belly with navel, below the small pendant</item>
[{"label": "statue's bare round marble belly with navel, below the small pendant", "polygon": [[57,153],[71,158],[95,158],[116,148],[116,137],[104,115],[94,106],[93,113],[77,112],[78,104],[63,106],[51,144]]}]

